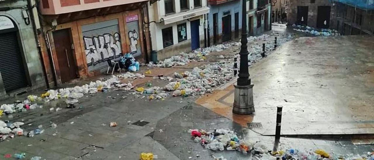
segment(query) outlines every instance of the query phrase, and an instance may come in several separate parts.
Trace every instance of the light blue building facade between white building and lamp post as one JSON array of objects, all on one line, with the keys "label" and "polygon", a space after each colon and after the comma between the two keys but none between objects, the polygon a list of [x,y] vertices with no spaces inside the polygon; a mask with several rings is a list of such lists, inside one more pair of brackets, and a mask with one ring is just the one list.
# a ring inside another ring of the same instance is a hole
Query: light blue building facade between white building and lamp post
[{"label": "light blue building facade between white building and lamp post", "polygon": [[242,29],[241,0],[208,0],[209,45],[238,39]]}]

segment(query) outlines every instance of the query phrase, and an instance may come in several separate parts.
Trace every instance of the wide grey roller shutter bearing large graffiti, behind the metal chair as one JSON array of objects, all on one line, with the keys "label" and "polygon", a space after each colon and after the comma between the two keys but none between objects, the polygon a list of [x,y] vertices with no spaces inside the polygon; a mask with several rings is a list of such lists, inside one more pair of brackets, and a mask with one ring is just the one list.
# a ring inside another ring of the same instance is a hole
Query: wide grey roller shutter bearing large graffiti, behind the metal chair
[{"label": "wide grey roller shutter bearing large graffiti, behind the metal chair", "polygon": [[118,20],[82,25],[88,71],[105,72],[108,59],[122,55]]}]

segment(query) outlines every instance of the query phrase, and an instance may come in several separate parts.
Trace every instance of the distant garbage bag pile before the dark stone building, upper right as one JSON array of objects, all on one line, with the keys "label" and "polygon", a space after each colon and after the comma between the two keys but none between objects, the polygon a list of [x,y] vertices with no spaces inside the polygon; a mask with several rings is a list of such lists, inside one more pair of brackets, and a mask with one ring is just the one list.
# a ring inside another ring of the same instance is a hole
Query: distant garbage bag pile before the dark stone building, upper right
[{"label": "distant garbage bag pile before the dark stone building, upper right", "polygon": [[293,30],[303,33],[309,33],[314,36],[340,36],[340,33],[337,30],[330,30],[330,29],[318,29],[304,25],[295,25],[293,24],[292,27],[295,27]]}]

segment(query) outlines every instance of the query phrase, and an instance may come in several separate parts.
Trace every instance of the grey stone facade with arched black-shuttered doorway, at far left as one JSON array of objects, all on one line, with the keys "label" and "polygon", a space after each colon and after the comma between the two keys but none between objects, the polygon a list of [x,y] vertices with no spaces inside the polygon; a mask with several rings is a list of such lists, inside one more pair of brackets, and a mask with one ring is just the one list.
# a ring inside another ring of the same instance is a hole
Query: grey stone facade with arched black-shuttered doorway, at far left
[{"label": "grey stone facade with arched black-shuttered doorway, at far left", "polygon": [[0,99],[46,86],[35,1],[0,1]]}]

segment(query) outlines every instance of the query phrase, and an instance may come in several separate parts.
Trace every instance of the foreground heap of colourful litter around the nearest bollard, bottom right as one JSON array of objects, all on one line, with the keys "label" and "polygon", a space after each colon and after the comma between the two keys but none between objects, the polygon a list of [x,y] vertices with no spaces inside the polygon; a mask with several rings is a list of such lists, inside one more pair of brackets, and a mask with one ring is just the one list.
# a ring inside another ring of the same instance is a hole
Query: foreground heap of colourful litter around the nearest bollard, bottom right
[{"label": "foreground heap of colourful litter around the nearest bollard, bottom right", "polygon": [[203,147],[213,151],[238,151],[244,155],[252,156],[255,160],[374,160],[374,152],[367,152],[362,155],[335,154],[324,150],[301,151],[294,148],[286,150],[267,150],[266,146],[258,142],[250,142],[241,139],[230,129],[214,129],[211,131],[190,129],[191,139],[200,143]]}]

